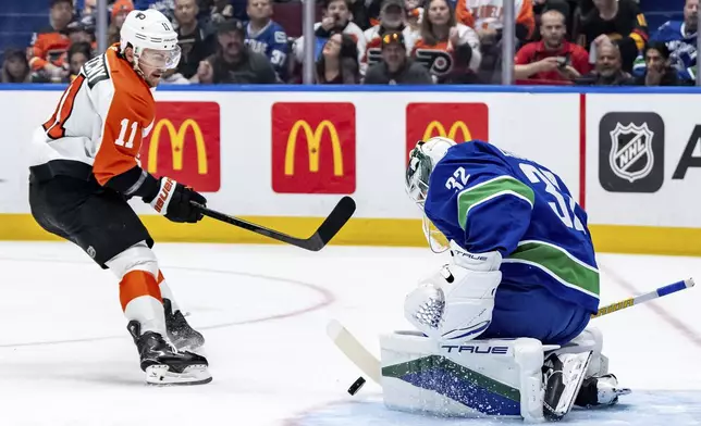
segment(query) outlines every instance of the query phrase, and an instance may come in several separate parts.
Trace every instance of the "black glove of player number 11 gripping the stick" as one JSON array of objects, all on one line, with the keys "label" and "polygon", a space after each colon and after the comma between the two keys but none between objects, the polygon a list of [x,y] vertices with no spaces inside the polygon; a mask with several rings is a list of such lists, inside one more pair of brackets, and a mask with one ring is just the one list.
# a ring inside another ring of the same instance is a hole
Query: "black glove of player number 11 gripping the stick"
[{"label": "black glove of player number 11 gripping the stick", "polygon": [[150,201],[146,199],[144,201],[172,222],[194,224],[201,221],[202,213],[190,204],[190,200],[206,205],[207,199],[205,197],[170,177],[161,177],[159,183],[158,195]]}]

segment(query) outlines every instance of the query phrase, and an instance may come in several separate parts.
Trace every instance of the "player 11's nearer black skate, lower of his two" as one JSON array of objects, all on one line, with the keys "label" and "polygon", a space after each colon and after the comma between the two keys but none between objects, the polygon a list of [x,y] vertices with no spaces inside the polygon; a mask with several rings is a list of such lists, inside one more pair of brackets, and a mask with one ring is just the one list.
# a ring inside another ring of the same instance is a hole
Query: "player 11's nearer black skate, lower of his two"
[{"label": "player 11's nearer black skate, lower of his two", "polygon": [[126,326],[134,338],[149,385],[202,385],[212,380],[205,356],[180,352],[153,331],[142,334],[142,325],[131,321]]}]

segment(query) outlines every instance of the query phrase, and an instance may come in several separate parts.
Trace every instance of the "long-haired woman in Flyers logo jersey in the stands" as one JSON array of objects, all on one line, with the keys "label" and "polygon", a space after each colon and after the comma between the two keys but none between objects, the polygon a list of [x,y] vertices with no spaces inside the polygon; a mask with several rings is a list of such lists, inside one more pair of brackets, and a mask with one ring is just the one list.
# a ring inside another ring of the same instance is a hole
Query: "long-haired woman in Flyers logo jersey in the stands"
[{"label": "long-haired woman in Flyers logo jersey in the stands", "polygon": [[475,30],[456,23],[455,11],[446,0],[430,0],[421,20],[421,33],[414,46],[411,58],[423,64],[438,79],[453,68],[453,51],[458,46],[471,49],[470,70],[477,72],[481,62],[480,42]]}]

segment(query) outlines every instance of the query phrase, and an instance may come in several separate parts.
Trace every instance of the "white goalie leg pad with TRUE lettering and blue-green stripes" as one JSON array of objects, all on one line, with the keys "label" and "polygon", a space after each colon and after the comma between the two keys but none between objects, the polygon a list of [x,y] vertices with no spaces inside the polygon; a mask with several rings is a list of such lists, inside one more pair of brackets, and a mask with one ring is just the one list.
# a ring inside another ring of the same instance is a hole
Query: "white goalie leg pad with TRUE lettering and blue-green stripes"
[{"label": "white goalie leg pad with TRUE lettering and blue-green stripes", "polygon": [[440,416],[543,421],[543,347],[530,338],[434,340],[380,337],[382,393],[392,410]]}]

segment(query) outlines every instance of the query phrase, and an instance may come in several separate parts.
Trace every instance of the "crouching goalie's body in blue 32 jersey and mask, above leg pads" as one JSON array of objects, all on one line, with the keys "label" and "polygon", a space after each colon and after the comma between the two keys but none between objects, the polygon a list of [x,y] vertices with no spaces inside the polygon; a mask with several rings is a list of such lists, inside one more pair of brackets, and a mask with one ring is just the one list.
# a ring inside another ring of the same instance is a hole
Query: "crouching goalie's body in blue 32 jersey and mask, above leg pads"
[{"label": "crouching goalie's body in blue 32 jersey and mask, above leg pads", "polygon": [[[477,291],[495,291],[484,306],[462,304],[489,314],[474,316],[471,324],[444,317],[434,335],[563,344],[585,329],[599,308],[599,272],[587,214],[557,175],[483,141],[433,138],[411,152],[407,186],[450,241],[454,261],[481,274]],[[430,230],[427,236],[435,247],[438,239]]]}]

